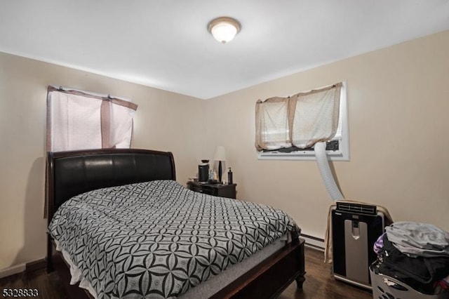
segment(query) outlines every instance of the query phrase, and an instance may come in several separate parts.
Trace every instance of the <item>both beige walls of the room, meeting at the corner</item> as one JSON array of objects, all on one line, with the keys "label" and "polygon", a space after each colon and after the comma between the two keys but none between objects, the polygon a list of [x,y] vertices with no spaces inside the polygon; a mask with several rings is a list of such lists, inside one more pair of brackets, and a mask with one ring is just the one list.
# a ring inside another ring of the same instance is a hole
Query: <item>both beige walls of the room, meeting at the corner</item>
[{"label": "both beige walls of the room, meeting at the corner", "polygon": [[170,150],[177,180],[224,145],[237,197],[283,208],[323,237],[331,203],[314,161],[257,160],[257,99],[347,81],[351,161],[333,164],[347,198],[394,220],[449,230],[449,32],[349,58],[208,101],[0,53],[0,270],[43,258],[43,171],[49,84],[132,98],[133,147]]}]

